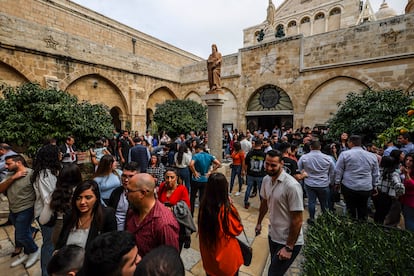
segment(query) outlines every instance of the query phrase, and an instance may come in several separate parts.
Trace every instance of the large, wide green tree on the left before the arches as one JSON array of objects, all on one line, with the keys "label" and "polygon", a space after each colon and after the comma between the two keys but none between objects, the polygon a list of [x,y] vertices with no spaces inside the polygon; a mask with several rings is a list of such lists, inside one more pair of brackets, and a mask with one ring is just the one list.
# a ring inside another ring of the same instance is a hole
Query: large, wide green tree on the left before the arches
[{"label": "large, wide green tree on the left before the arches", "polygon": [[33,154],[45,138],[64,141],[74,135],[76,145],[87,149],[113,129],[106,106],[78,103],[76,96],[26,83],[6,87],[0,98],[0,140]]}]

